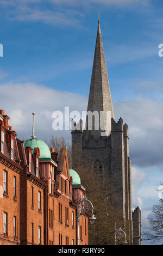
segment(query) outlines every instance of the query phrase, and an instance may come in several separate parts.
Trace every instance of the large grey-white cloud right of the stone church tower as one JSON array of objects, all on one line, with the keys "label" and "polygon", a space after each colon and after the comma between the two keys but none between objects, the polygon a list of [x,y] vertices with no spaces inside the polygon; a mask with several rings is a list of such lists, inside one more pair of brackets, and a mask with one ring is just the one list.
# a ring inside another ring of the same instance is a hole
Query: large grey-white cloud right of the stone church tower
[{"label": "large grey-white cloud right of the stone church tower", "polygon": [[115,116],[129,126],[132,163],[151,167],[163,163],[163,102],[136,98],[114,103]]}]

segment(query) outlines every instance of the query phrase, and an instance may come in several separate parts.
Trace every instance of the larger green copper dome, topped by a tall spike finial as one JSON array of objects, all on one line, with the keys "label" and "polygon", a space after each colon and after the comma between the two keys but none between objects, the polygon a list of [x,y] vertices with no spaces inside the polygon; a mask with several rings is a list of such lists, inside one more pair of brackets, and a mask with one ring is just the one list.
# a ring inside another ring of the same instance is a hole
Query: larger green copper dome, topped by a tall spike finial
[{"label": "larger green copper dome, topped by a tall spike finial", "polygon": [[39,148],[40,159],[51,158],[51,151],[49,150],[48,145],[40,139],[27,139],[27,141],[24,142],[24,148],[27,147],[30,147],[32,149]]}]

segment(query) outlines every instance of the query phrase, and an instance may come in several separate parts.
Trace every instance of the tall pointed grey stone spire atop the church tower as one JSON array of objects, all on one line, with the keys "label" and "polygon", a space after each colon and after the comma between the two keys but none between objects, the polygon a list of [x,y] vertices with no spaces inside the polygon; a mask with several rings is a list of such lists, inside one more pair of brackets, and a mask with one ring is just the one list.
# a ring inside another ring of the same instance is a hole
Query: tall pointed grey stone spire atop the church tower
[{"label": "tall pointed grey stone spire atop the church tower", "polygon": [[[91,86],[87,111],[110,111],[111,118],[114,118],[111,93],[108,81],[108,72],[104,56],[101,28],[98,15],[98,29],[96,38],[95,55],[93,60]],[[106,121],[104,121],[106,126]]]}]

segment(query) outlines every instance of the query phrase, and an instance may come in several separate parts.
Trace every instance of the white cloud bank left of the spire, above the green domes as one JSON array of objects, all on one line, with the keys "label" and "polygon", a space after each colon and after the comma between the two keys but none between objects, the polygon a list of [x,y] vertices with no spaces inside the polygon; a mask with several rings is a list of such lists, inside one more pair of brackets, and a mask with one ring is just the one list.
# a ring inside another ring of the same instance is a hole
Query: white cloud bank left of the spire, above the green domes
[{"label": "white cloud bank left of the spire, above the green domes", "polygon": [[[32,131],[32,112],[36,112],[36,136],[40,139],[49,139],[58,135],[52,129],[52,113],[64,112],[69,106],[70,111],[83,111],[87,105],[87,97],[47,88],[35,83],[8,83],[0,86],[1,109],[10,116],[9,124],[17,131],[19,138],[29,138]],[[62,136],[70,139],[70,131],[60,131]]]}]

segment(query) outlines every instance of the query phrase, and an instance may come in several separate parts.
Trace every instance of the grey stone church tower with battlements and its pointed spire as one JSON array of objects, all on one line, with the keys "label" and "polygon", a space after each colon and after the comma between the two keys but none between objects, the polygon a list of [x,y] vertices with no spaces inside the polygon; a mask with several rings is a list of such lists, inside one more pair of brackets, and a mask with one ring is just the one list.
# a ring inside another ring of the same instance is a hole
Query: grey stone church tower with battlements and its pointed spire
[{"label": "grey stone church tower with battlements and its pointed spire", "polygon": [[[89,117],[92,115],[92,129]],[[101,113],[102,117],[101,117]],[[96,118],[96,115],[99,118]],[[122,211],[122,220],[127,228],[128,242],[133,243],[133,220],[131,207],[131,162],[129,158],[128,125],[122,118],[114,118],[108,72],[104,56],[101,28],[98,21],[95,55],[91,77],[89,102],[87,105],[86,127],[80,120],[72,129],[72,151],[75,147],[82,150],[83,156],[92,168],[111,177],[114,193],[118,200],[116,207]]]}]

